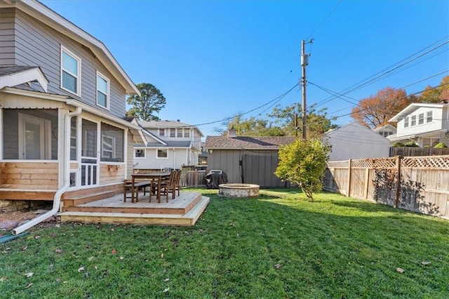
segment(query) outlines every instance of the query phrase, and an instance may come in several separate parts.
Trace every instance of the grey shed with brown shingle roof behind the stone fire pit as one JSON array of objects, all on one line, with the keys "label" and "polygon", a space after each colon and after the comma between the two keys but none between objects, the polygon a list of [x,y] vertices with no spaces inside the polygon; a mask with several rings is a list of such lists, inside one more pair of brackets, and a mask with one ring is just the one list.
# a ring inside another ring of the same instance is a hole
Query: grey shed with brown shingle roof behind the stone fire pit
[{"label": "grey shed with brown shingle roof behind the stone fire pit", "polygon": [[284,187],[274,175],[279,163],[279,146],[289,145],[294,137],[245,137],[229,130],[227,136],[207,136],[208,171],[221,170],[230,183]]}]

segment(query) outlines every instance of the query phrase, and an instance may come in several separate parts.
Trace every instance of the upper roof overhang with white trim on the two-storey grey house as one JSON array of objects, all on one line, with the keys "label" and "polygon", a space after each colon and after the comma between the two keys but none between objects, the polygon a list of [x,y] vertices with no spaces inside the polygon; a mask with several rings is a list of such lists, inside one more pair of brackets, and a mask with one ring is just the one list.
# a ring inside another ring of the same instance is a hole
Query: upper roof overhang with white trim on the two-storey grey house
[{"label": "upper roof overhang with white trim on the two-storey grey house", "polygon": [[70,39],[86,46],[92,51],[93,55],[95,55],[95,57],[98,58],[98,60],[100,60],[105,67],[107,67],[109,72],[114,75],[115,79],[120,82],[121,86],[125,88],[126,93],[140,95],[138,88],[128,77],[128,74],[126,74],[126,72],[121,68],[119,62],[116,61],[112,53],[109,52],[102,41],[95,39],[95,37],[91,36],[91,34],[88,34],[69,20],[63,18],[58,13],[55,13],[55,11],[52,11],[50,8],[36,0],[0,0],[0,6],[15,7],[52,27],[61,34],[68,36]]}]

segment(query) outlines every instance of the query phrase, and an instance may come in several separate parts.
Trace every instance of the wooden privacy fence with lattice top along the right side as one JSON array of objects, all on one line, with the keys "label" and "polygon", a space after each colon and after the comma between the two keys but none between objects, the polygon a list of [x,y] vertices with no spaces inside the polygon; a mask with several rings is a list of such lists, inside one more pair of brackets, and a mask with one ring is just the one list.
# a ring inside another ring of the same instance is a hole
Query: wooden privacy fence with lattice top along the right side
[{"label": "wooden privacy fence with lattice top along the right side", "polygon": [[330,161],[324,190],[449,217],[449,156]]}]

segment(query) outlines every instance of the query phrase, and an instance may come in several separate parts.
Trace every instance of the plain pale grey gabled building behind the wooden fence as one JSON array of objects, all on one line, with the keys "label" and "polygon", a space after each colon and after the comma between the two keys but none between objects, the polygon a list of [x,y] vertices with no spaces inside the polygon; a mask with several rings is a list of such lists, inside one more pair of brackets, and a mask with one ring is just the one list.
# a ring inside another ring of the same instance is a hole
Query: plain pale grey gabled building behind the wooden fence
[{"label": "plain pale grey gabled building behind the wooden fence", "polygon": [[389,140],[358,122],[326,132],[323,140],[332,146],[329,161],[389,157]]}]

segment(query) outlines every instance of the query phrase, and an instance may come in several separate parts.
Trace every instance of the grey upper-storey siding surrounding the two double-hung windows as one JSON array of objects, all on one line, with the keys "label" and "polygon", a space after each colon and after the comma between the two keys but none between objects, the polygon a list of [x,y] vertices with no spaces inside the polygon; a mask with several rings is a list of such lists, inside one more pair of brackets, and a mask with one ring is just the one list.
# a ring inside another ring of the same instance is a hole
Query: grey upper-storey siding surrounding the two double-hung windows
[{"label": "grey upper-storey siding surrounding the two double-hung windows", "polygon": [[[60,45],[81,59],[81,98],[60,89]],[[69,95],[116,117],[124,116],[125,89],[112,77],[100,60],[77,41],[69,39],[21,11],[15,13],[15,64],[40,66],[50,81],[49,93]],[[96,105],[97,70],[110,80],[110,111]]]}]

